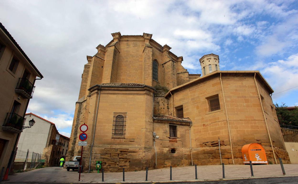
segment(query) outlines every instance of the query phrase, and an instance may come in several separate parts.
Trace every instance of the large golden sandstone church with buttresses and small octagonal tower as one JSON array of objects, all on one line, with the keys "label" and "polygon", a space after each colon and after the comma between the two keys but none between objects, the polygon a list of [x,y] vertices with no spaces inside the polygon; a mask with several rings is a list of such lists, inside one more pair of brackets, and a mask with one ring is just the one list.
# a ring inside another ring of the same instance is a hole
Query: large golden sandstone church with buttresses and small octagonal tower
[{"label": "large golden sandstone church with buttresses and small octagonal tower", "polygon": [[273,89],[259,71],[221,71],[219,56],[207,54],[202,75],[190,74],[152,34],[111,35],[87,56],[66,160],[81,154],[86,123],[85,171],[96,161],[112,172],[243,164],[248,143],[260,143],[269,163],[289,163]]}]

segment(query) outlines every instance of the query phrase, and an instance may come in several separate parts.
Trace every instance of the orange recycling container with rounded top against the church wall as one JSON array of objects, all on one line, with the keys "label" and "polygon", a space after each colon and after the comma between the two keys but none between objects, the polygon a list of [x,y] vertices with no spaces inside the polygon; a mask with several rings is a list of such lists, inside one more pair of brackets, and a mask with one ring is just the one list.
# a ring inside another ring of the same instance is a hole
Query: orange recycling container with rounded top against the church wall
[{"label": "orange recycling container with rounded top against the church wall", "polygon": [[249,163],[249,161],[252,161],[252,163],[268,164],[265,150],[263,146],[258,143],[244,145],[241,149],[241,152],[243,163]]}]

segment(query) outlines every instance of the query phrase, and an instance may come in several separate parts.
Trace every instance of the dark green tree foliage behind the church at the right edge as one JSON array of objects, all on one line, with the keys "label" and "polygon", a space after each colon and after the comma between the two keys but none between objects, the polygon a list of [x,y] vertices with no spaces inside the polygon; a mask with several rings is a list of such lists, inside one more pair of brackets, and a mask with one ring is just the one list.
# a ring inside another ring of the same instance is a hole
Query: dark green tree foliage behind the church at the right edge
[{"label": "dark green tree foliage behind the church at the right edge", "polygon": [[294,110],[288,110],[285,103],[278,105],[274,104],[276,115],[280,124],[298,126],[298,108],[295,106]]}]

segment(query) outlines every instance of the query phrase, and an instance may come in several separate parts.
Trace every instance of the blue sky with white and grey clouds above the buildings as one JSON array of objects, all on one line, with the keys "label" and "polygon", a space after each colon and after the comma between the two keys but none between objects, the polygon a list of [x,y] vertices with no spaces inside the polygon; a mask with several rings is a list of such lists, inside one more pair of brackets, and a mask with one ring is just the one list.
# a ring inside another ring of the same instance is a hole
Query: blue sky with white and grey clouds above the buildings
[{"label": "blue sky with white and grey clouds above the buildings", "polygon": [[219,55],[221,70],[260,70],[274,102],[298,105],[297,20],[294,0],[2,0],[0,6],[1,23],[44,75],[27,112],[54,122],[66,136],[86,55],[118,31],[153,34],[183,56],[190,73],[201,73],[198,60],[209,53]]}]

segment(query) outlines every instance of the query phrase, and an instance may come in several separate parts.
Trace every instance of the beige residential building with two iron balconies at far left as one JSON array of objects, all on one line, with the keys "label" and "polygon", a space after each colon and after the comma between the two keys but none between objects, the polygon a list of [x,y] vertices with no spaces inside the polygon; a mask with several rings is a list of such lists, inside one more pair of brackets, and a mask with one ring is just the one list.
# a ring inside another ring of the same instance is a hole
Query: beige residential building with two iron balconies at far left
[{"label": "beige residential building with two iron balconies at far left", "polygon": [[0,168],[4,167],[7,173],[33,96],[35,80],[43,76],[1,23],[0,75]]}]

